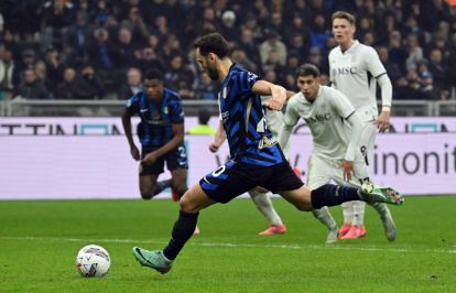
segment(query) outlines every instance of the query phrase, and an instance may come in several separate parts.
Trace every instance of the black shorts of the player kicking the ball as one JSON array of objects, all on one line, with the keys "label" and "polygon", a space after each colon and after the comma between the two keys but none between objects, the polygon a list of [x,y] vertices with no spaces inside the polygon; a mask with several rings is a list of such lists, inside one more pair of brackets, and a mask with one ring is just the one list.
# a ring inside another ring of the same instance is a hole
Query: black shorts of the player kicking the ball
[{"label": "black shorts of the player kicking the ball", "polygon": [[231,160],[204,176],[199,185],[213,200],[226,204],[257,186],[280,193],[297,189],[304,183],[287,162],[273,166],[258,166]]}]

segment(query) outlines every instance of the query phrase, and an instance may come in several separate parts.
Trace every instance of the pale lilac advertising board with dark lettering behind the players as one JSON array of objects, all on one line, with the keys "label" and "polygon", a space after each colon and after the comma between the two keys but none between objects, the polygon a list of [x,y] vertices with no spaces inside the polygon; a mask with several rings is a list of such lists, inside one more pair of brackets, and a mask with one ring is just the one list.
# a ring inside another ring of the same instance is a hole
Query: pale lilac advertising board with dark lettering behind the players
[{"label": "pale lilac advertising board with dark lettering behind the players", "polygon": [[[186,119],[186,128],[196,123]],[[378,135],[371,177],[406,195],[456,194],[455,132],[456,118],[392,118],[390,132]],[[208,151],[211,140],[186,135],[189,184],[228,160],[227,144],[217,154]],[[311,148],[310,130],[300,122],[290,163],[303,180]],[[0,118],[0,199],[139,198],[138,163],[119,118]]]}]

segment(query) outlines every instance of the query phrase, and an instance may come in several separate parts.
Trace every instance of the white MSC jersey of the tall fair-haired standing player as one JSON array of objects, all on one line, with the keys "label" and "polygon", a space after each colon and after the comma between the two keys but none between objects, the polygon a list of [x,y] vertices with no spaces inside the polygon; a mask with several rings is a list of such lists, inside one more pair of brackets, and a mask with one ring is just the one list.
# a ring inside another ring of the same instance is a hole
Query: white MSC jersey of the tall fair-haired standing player
[{"label": "white MSC jersey of the tall fair-haired standing player", "polygon": [[329,52],[329,80],[348,97],[362,121],[378,116],[376,86],[387,74],[371,46],[355,41],[345,52],[340,46]]}]

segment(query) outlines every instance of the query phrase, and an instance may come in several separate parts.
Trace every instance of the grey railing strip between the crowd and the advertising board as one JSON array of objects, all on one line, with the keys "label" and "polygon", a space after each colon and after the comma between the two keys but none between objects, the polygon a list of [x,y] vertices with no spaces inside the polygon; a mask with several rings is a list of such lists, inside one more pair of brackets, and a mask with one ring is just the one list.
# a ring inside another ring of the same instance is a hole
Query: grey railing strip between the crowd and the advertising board
[{"label": "grey railing strip between the crowd and the advertising board", "polygon": [[[1,102],[0,102],[1,104]],[[120,116],[123,100],[4,100],[8,117],[112,117]],[[215,100],[183,100],[187,116],[196,116],[200,107],[218,113]],[[393,100],[392,116],[456,116],[456,100]],[[1,113],[1,111],[0,111]]]}]

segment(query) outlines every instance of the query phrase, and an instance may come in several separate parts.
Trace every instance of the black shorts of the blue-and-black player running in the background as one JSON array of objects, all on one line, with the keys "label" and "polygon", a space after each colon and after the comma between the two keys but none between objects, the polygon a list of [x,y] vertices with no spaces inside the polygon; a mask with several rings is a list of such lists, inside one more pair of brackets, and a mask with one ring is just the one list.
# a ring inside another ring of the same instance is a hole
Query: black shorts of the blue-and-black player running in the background
[{"label": "black shorts of the blue-and-black player running in the background", "polygon": [[[146,148],[143,146],[141,150],[141,159],[144,159],[144,156],[148,153],[151,153],[159,148]],[[164,163],[166,161],[166,167],[170,171],[176,170],[176,169],[188,169],[188,160],[187,160],[187,151],[185,149],[185,145],[182,144],[177,146],[176,149],[170,151],[159,160],[156,160],[153,164],[140,164],[140,176],[146,176],[146,175],[158,175],[162,174],[164,172]]]}]

